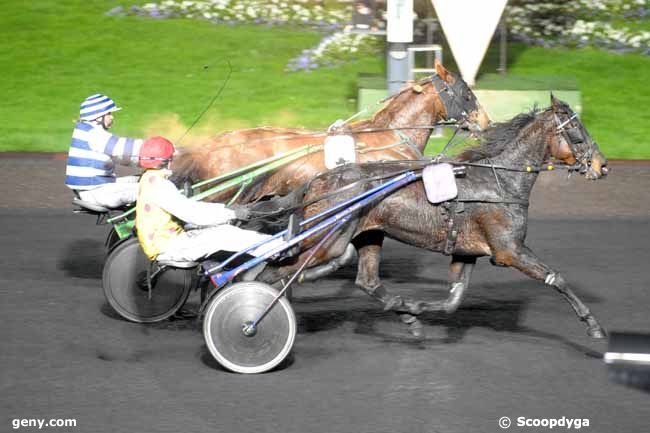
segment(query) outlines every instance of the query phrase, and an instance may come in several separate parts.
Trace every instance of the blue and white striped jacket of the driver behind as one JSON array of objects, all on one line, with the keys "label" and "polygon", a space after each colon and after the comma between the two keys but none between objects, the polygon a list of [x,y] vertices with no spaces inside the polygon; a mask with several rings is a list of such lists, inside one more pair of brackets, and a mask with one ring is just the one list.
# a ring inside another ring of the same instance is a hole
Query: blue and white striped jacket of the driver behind
[{"label": "blue and white striped jacket of the driver behind", "polygon": [[77,122],[68,151],[65,184],[71,189],[93,189],[115,182],[113,160],[137,165],[142,141],[118,137],[92,122]]}]

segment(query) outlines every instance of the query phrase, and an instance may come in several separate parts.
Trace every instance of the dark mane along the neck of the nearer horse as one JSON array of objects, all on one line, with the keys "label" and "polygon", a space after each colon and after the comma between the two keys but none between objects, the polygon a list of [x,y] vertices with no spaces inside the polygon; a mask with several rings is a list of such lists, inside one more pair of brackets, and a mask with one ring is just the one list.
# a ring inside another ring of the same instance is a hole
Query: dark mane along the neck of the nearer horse
[{"label": "dark mane along the neck of the nearer horse", "polygon": [[533,108],[528,113],[521,113],[506,122],[495,123],[485,130],[479,144],[465,149],[457,159],[476,162],[500,155],[508,144],[518,139],[520,132],[537,119],[540,110]]}]

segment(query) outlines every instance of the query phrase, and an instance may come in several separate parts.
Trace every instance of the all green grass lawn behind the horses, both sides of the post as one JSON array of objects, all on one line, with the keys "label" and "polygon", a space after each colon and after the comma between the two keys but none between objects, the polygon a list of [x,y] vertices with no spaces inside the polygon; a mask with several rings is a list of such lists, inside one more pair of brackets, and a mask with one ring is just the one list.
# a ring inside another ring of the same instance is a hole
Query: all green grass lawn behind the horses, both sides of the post
[{"label": "all green grass lawn behind the horses, both sides of the post", "polygon": [[[359,73],[384,73],[381,56],[285,72],[291,57],[318,42],[315,32],[105,15],[136,1],[6,3],[0,151],[65,151],[79,103],[98,92],[124,108],[115,133],[177,138],[223,83],[226,61],[232,77],[197,132],[262,124],[322,128],[354,113]],[[482,72],[495,71],[496,54],[490,50]],[[583,120],[609,158],[650,158],[649,57],[519,44],[510,45],[508,56],[508,72],[516,76],[575,77]]]}]

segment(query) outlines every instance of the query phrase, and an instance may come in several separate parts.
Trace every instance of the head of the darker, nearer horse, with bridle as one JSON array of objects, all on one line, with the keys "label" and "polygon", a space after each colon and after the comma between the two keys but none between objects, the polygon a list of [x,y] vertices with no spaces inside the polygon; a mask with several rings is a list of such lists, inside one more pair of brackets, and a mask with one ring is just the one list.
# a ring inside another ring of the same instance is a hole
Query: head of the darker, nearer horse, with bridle
[{"label": "head of the darker, nearer horse, with bridle", "polygon": [[556,126],[556,135],[550,143],[551,155],[568,165],[577,165],[586,179],[595,180],[607,175],[607,159],[578,115],[553,94],[551,110]]}]

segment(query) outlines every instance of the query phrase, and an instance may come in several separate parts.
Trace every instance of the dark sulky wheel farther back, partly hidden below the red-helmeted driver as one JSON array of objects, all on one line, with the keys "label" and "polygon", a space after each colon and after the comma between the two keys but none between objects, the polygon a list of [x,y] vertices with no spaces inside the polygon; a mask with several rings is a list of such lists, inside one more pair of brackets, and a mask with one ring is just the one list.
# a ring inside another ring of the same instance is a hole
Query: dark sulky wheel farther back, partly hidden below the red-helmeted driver
[{"label": "dark sulky wheel farther back, partly hidden below the red-helmeted driver", "polygon": [[165,320],[177,312],[190,294],[192,272],[166,268],[147,287],[149,259],[138,239],[118,245],[106,259],[103,274],[104,295],[120,316],[138,323]]}]

